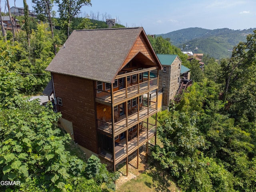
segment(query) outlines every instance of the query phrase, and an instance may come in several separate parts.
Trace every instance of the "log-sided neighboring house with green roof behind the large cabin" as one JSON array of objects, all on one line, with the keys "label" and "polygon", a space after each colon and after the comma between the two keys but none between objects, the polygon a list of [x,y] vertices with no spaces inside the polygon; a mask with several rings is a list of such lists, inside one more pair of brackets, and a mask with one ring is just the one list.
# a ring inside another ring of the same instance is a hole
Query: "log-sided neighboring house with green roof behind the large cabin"
[{"label": "log-sided neighboring house with green roof behind the large cabin", "polygon": [[157,54],[163,70],[159,71],[159,90],[162,90],[162,109],[168,108],[180,86],[181,60],[178,55]]}]

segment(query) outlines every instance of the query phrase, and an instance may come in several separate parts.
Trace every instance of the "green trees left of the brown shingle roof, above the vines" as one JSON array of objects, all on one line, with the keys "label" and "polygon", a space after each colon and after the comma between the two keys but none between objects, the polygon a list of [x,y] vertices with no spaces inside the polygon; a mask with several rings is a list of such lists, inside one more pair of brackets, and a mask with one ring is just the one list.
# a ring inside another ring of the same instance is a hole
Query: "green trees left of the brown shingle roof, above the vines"
[{"label": "green trees left of the brown shingle roof, above the vines", "polygon": [[0,40],[0,68],[16,76],[16,88],[21,94],[42,92],[50,81],[45,68],[54,56],[47,25],[40,24],[32,31],[30,47],[24,32],[16,38],[15,42]]}]

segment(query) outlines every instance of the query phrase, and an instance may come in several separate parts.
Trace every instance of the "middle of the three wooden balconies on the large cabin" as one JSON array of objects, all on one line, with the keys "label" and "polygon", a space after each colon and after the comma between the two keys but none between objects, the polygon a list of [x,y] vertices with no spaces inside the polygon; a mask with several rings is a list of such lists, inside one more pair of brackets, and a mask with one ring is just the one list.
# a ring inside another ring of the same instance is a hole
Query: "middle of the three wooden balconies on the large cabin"
[{"label": "middle of the three wooden balconies on the large cabin", "polygon": [[102,130],[108,134],[112,135],[112,131],[114,131],[114,136],[124,132],[124,130],[128,129],[128,127],[132,127],[138,122],[152,116],[157,112],[157,103],[151,102],[152,104],[149,107],[141,106],[138,112],[138,109],[133,109],[128,112],[128,115],[120,116],[120,118],[116,119],[114,122],[114,130],[112,129],[111,120],[106,119],[97,119],[98,121],[98,130]]}]

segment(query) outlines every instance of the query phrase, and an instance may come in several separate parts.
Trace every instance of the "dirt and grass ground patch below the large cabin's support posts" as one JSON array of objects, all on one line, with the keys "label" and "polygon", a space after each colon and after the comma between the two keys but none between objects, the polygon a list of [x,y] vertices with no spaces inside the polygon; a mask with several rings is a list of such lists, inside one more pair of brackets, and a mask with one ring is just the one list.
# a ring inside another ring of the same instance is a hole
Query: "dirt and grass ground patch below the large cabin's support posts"
[{"label": "dirt and grass ground patch below the large cabin's support posts", "polygon": [[[150,150],[149,150],[150,154]],[[137,168],[137,156],[129,157],[128,176],[126,176],[126,162],[117,167],[120,178],[116,181],[116,192],[180,192],[176,183],[160,166],[152,163],[152,158],[146,158],[146,145],[139,154],[139,167]]]}]

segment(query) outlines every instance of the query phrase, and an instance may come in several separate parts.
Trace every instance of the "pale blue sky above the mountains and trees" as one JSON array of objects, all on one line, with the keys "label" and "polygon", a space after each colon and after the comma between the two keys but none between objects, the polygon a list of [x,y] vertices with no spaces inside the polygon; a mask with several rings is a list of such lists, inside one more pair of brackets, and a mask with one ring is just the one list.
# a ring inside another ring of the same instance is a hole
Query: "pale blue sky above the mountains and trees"
[{"label": "pale blue sky above the mountains and trees", "polygon": [[[14,6],[14,0],[9,0]],[[31,0],[27,0],[32,9]],[[147,34],[165,34],[190,27],[256,28],[256,0],[91,0],[80,16],[107,14],[127,27],[142,26]],[[22,0],[16,0],[23,7]],[[4,0],[1,0],[4,10]],[[58,8],[55,7],[55,10]]]}]

